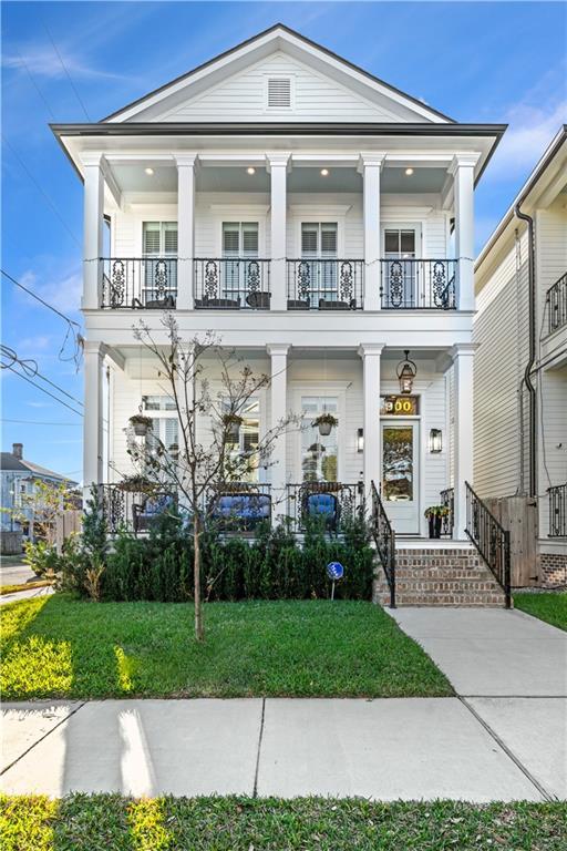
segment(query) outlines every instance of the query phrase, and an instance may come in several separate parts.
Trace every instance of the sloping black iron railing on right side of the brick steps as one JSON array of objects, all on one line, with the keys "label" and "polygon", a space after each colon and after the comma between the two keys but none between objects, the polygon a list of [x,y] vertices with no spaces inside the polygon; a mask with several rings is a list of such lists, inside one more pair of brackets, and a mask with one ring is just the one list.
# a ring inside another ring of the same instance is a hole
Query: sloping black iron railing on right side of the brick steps
[{"label": "sloping black iron railing on right side of the brick steps", "polygon": [[509,532],[491,514],[485,503],[466,486],[465,532],[504,591],[506,608],[512,605]]}]

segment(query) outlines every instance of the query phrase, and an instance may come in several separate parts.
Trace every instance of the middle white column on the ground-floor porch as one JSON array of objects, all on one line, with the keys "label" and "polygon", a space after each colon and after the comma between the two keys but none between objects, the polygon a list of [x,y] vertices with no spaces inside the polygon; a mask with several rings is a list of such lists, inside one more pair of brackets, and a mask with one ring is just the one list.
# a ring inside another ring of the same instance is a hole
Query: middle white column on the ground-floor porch
[{"label": "middle white column on the ground-floor porch", "polygon": [[[270,429],[277,429],[281,420],[285,420],[288,416],[288,402],[287,402],[287,385],[288,385],[288,351],[289,346],[287,344],[272,344],[266,347],[268,355],[271,359],[271,381],[270,381],[270,402],[271,402],[271,417]],[[270,470],[271,470],[271,499],[274,502],[272,517],[274,520],[281,514],[285,514],[286,509],[286,484],[287,484],[287,471],[286,471],[286,443],[287,434],[280,434],[274,444],[274,450],[270,457]]]}]

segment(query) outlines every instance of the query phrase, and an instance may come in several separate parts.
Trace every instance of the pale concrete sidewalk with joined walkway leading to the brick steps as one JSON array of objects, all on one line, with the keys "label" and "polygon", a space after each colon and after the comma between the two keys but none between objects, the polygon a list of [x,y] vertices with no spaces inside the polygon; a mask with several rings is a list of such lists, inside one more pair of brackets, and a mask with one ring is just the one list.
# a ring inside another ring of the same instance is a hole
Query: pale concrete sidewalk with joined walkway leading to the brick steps
[{"label": "pale concrete sidewalk with joined walkway leading to the brick steps", "polygon": [[[567,635],[519,613],[497,612],[495,621],[487,614],[395,613],[474,697],[7,704],[2,789],[53,797],[567,798],[567,699],[540,696],[564,687]],[[533,666],[547,654],[555,673],[550,665],[543,677]]]}]

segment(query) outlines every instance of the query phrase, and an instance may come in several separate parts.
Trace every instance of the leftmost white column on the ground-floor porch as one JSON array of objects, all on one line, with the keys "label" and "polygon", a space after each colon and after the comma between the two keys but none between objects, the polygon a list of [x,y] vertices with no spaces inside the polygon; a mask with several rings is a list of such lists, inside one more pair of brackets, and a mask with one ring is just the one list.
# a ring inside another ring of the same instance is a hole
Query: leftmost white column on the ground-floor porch
[{"label": "leftmost white column on the ground-floor porch", "polygon": [[103,481],[104,461],[104,381],[103,361],[106,347],[86,340],[84,344],[84,423],[83,423],[83,493],[89,499],[91,484]]}]

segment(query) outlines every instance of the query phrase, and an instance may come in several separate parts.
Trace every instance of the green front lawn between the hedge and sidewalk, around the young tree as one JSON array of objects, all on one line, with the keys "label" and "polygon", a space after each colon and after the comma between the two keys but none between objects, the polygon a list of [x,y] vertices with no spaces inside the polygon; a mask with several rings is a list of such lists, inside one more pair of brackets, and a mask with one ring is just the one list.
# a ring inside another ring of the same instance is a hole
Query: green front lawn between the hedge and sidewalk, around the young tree
[{"label": "green front lawn between the hedge and sidewalk, around the young tree", "polygon": [[400,697],[453,694],[371,603],[209,603],[206,640],[176,603],[55,594],[0,613],[4,700],[72,697]]}]

